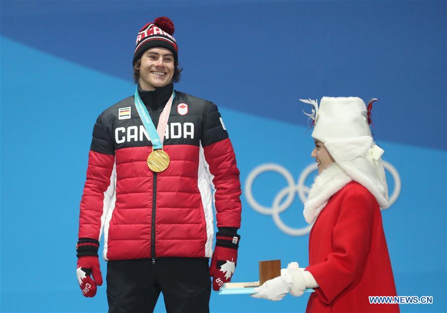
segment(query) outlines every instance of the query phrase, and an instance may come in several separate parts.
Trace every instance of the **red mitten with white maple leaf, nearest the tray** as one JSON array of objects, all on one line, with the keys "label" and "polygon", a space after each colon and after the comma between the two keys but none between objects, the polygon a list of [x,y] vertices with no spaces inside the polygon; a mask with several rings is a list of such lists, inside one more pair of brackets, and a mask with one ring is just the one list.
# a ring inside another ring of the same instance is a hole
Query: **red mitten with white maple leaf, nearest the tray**
[{"label": "red mitten with white maple leaf, nearest the tray", "polygon": [[213,276],[213,289],[218,291],[224,283],[231,281],[236,268],[237,248],[240,236],[235,232],[220,231],[216,234],[216,247],[211,259],[210,275]]}]

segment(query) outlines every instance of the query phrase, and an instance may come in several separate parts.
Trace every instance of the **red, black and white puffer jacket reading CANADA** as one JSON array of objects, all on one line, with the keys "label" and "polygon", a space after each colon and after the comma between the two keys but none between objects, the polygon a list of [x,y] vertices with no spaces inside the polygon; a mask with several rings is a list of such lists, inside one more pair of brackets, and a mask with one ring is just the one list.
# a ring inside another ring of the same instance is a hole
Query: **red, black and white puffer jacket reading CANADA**
[{"label": "red, black and white puffer jacket reading CANADA", "polygon": [[[162,108],[148,109],[157,125]],[[99,115],[78,235],[100,240],[104,232],[105,260],[211,257],[212,202],[218,227],[240,227],[239,170],[217,106],[175,91],[163,149],[169,167],[152,172],[133,96]]]}]

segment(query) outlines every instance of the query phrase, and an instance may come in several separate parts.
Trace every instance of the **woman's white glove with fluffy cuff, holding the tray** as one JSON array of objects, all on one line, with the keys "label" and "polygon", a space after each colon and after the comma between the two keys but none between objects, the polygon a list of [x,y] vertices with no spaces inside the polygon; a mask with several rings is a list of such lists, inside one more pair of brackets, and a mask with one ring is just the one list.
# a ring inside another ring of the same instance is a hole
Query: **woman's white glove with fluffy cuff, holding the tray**
[{"label": "woman's white glove with fluffy cuff, holding the tray", "polygon": [[290,263],[287,269],[281,270],[281,276],[270,279],[262,286],[255,288],[256,294],[252,297],[280,301],[289,292],[295,297],[301,296],[306,288],[303,271],[304,269],[300,269],[297,262]]}]

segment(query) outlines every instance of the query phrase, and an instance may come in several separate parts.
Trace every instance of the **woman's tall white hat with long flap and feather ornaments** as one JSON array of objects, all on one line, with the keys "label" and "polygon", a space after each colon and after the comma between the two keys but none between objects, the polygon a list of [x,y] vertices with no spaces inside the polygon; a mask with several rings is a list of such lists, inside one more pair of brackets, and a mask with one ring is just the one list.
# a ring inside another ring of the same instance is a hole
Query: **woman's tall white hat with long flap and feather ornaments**
[{"label": "woman's tall white hat with long flap and feather ornaments", "polygon": [[321,141],[335,162],[353,180],[365,186],[382,209],[389,207],[388,186],[381,156],[383,150],[375,145],[371,135],[371,110],[358,97],[323,97],[302,100],[311,104],[312,137]]}]

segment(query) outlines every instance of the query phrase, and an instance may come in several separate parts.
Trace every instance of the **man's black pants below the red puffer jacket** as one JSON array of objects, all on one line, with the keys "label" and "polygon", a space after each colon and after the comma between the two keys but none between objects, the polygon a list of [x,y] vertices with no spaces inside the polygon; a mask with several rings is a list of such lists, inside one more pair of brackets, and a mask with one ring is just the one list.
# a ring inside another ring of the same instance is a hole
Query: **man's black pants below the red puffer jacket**
[{"label": "man's black pants below the red puffer jacket", "polygon": [[153,312],[160,292],[166,312],[210,312],[211,279],[206,258],[107,262],[109,313]]}]

